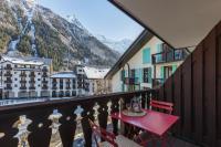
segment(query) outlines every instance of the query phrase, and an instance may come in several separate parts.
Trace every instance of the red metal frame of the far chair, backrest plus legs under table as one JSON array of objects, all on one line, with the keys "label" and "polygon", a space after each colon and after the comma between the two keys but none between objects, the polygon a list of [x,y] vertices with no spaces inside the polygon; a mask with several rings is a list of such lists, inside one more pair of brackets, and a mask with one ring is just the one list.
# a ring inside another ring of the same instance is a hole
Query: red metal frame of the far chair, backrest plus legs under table
[{"label": "red metal frame of the far chair, backrest plus legs under table", "polygon": [[[172,104],[172,103],[162,102],[162,101],[154,101],[154,99],[150,99],[149,109],[152,109],[152,107],[167,111],[168,114],[171,114],[172,111],[173,111],[173,108],[172,108],[172,107],[173,107],[173,104]],[[138,136],[138,138],[141,140],[141,143],[140,143],[141,146],[146,146],[147,143],[150,141],[150,140],[154,140],[154,139],[161,139],[161,140],[162,140],[162,146],[166,147],[166,140],[167,140],[167,138],[168,138],[168,135],[165,134],[165,135],[161,136],[160,138],[159,138],[159,137],[156,137],[155,135],[150,135],[150,138],[148,138],[147,140],[143,140],[143,139],[140,138],[140,136]]]}]

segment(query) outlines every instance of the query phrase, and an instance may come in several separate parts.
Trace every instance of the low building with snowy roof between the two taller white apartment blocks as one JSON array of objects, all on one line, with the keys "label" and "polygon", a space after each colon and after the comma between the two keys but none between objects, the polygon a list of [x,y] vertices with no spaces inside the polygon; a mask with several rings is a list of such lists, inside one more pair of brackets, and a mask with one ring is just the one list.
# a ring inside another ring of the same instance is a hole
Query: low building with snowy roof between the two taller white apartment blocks
[{"label": "low building with snowy roof between the two taller white apartment blocks", "polygon": [[73,72],[55,73],[50,78],[52,97],[71,97],[77,95],[76,75]]}]

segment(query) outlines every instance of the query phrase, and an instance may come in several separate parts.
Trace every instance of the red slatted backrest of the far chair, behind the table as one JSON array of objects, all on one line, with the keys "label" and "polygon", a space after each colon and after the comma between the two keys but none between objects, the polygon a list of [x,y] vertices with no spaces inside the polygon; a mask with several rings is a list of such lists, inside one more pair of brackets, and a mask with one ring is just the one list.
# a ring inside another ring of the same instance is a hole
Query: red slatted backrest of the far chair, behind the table
[{"label": "red slatted backrest of the far chair, behind the table", "polygon": [[168,114],[171,114],[173,108],[173,104],[172,103],[168,103],[168,102],[162,102],[162,101],[150,101],[150,108],[156,107],[159,109],[165,109],[168,112]]}]

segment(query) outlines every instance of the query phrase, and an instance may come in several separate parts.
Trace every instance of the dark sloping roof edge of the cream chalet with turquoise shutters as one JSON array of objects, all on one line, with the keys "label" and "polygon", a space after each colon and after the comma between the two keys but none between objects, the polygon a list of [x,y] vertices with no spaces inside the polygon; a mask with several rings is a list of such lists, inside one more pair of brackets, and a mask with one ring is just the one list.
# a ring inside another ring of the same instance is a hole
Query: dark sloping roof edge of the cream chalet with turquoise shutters
[{"label": "dark sloping roof edge of the cream chalet with turquoise shutters", "polygon": [[154,35],[144,30],[140,35],[134,41],[134,43],[127,49],[127,51],[119,57],[116,64],[105,75],[105,78],[112,78],[112,76],[120,70]]}]

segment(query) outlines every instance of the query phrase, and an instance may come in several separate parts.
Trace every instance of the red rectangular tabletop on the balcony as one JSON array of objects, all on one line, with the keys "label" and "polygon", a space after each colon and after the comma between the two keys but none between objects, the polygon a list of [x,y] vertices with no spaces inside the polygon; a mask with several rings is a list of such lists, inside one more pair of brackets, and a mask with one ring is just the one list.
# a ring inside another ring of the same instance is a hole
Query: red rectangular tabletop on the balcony
[{"label": "red rectangular tabletop on the balcony", "polygon": [[147,112],[145,116],[126,116],[123,113],[113,113],[110,116],[158,136],[162,136],[179,119],[178,116],[150,109],[144,111]]}]

